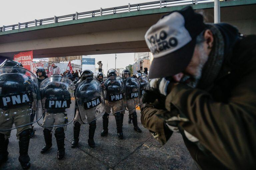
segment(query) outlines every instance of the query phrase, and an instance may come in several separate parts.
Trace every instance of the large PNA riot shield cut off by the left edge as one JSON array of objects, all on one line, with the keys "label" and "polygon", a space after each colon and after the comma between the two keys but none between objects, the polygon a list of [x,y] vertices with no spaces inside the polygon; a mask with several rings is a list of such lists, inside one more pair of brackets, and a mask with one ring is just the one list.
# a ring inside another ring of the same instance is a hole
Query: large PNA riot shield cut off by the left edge
[{"label": "large PNA riot shield cut off by the left edge", "polygon": [[0,131],[30,126],[42,117],[35,75],[23,67],[0,68]]}]

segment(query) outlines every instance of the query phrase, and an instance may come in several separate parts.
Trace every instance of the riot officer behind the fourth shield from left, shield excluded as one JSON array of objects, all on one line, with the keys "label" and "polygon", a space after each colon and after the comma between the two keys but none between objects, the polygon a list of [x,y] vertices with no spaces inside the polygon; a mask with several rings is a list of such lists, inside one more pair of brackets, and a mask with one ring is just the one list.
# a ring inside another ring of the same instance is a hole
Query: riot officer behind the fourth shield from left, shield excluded
[{"label": "riot officer behind the fourth shield from left, shield excluded", "polygon": [[[115,69],[109,69],[107,72],[107,77],[112,77],[116,76],[117,72]],[[118,87],[119,83],[114,82],[112,83],[111,86],[108,87],[107,92],[111,93],[111,91],[115,91],[115,86]],[[106,88],[105,86],[103,88]],[[102,116],[102,122],[103,122],[103,130],[101,132],[101,136],[106,136],[108,134],[108,118],[110,110],[112,108],[113,115],[115,116],[116,119],[116,129],[117,129],[117,135],[119,139],[123,139],[123,119],[124,119],[124,114],[121,112],[116,112],[117,110],[120,110],[122,107],[122,103],[120,101],[115,102],[117,105],[109,102],[108,100],[105,100],[106,104],[106,113]]]}]

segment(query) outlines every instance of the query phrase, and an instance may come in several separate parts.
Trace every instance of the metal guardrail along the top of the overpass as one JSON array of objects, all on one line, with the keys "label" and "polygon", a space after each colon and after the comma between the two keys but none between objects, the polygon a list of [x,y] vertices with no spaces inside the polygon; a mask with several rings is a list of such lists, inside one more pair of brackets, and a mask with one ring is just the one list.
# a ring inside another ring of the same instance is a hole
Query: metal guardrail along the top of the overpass
[{"label": "metal guardrail along the top of the overpass", "polygon": [[79,20],[82,18],[98,17],[98,16],[103,16],[108,14],[140,11],[140,10],[153,9],[153,8],[166,8],[166,7],[178,6],[178,5],[194,5],[194,4],[207,3],[207,2],[214,2],[214,0],[160,0],[160,1],[154,1],[154,2],[132,4],[132,5],[129,3],[128,5],[125,5],[125,6],[106,8],[106,9],[100,8],[99,10],[94,10],[94,11],[81,12],[81,13],[76,12],[75,14],[70,14],[70,15],[64,15],[59,17],[54,16],[52,18],[46,18],[46,19],[34,20],[30,22],[25,22],[25,23],[18,23],[18,24],[9,25],[9,26],[3,26],[3,27],[0,27],[0,32],[10,31],[10,30],[19,30],[23,28],[36,27],[40,25],[58,23],[63,21]]}]

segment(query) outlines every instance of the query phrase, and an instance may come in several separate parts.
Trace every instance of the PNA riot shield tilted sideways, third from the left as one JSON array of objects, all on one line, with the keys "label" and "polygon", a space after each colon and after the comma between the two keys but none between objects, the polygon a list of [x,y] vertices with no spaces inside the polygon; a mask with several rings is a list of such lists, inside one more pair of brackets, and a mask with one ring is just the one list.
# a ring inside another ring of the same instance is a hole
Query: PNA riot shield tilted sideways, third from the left
[{"label": "PNA riot shield tilted sideways, third from the left", "polygon": [[90,123],[105,113],[105,101],[101,83],[95,79],[86,79],[76,89],[76,102],[81,121]]}]

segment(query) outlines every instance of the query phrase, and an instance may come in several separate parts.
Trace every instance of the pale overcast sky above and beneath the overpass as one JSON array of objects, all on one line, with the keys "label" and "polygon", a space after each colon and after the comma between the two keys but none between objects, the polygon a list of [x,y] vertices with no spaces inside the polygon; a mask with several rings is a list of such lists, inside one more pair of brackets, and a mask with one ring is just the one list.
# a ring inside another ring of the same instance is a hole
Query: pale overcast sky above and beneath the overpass
[{"label": "pale overcast sky above and beneath the overpass", "polygon": [[[1,1],[0,6],[0,26],[13,25],[18,22],[34,21],[34,19],[44,19],[53,16],[74,14],[75,12],[86,12],[100,8],[111,8],[152,0],[10,0]],[[123,56],[123,57],[122,57]],[[115,68],[115,54],[91,55],[95,61],[103,63],[103,69]],[[122,58],[121,58],[122,57]],[[124,59],[125,58],[125,59]],[[117,68],[134,63],[134,53],[117,54]],[[98,65],[96,65],[98,67]]]}]

